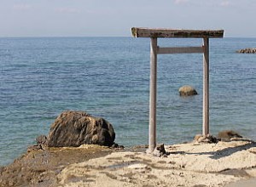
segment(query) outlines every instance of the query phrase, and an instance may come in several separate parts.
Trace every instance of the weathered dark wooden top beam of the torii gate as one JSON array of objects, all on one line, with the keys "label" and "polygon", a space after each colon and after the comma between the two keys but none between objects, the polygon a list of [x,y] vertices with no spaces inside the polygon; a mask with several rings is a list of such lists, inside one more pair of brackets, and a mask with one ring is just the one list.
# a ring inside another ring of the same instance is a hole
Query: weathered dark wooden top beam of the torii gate
[{"label": "weathered dark wooden top beam of the torii gate", "polygon": [[177,30],[177,29],[151,29],[132,27],[133,37],[223,37],[224,30]]}]

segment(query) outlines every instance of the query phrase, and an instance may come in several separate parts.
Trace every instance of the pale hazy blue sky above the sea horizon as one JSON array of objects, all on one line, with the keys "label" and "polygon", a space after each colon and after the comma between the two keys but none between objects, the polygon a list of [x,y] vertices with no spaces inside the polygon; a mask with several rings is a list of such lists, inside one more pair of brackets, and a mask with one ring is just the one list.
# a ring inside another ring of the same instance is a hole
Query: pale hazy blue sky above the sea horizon
[{"label": "pale hazy blue sky above the sea horizon", "polygon": [[0,37],[129,37],[131,27],[256,37],[255,0],[0,0]]}]

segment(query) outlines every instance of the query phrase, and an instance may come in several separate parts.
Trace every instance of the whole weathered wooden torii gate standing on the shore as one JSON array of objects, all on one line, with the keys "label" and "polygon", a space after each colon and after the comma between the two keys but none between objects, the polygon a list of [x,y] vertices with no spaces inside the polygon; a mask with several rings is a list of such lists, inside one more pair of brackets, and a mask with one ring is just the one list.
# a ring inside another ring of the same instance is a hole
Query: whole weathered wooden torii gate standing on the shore
[{"label": "whole weathered wooden torii gate standing on the shore", "polygon": [[[202,133],[209,133],[209,38],[223,37],[224,30],[174,30],[131,28],[133,37],[150,37],[150,93],[149,93],[149,128],[148,151],[153,152],[156,146],[156,82],[157,54],[203,54],[203,124]],[[202,38],[203,45],[199,47],[160,48],[158,37]]]}]

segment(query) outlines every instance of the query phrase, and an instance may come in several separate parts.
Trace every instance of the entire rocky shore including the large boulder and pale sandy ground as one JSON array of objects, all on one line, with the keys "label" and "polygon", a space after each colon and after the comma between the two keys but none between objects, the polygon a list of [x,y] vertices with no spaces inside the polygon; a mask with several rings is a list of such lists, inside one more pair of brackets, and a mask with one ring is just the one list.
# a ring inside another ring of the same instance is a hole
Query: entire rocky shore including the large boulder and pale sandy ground
[{"label": "entire rocky shore including the large boulder and pale sandy ground", "polygon": [[153,154],[146,146],[124,149],[113,141],[113,127],[104,119],[63,112],[49,135],[39,136],[26,154],[0,167],[0,186],[232,187],[256,178],[256,143],[234,131],[160,144]]}]

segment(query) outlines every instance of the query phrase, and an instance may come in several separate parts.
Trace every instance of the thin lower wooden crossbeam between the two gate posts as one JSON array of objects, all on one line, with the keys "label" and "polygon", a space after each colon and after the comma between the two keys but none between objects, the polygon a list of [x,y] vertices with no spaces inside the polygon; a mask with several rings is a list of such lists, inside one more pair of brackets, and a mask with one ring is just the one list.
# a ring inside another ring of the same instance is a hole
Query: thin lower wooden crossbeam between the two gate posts
[{"label": "thin lower wooden crossbeam between the two gate posts", "polygon": [[202,47],[158,48],[157,54],[201,54]]}]

